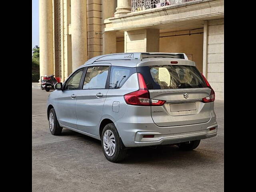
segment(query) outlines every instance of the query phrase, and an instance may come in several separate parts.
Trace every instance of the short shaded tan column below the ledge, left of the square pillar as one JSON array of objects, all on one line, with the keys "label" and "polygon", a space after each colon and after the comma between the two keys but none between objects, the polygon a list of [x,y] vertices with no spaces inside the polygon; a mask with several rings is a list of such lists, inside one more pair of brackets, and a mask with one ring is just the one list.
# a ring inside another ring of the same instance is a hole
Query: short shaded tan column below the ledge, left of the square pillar
[{"label": "short shaded tan column below the ledge, left of the square pillar", "polygon": [[103,54],[116,53],[116,32],[104,32]]}]

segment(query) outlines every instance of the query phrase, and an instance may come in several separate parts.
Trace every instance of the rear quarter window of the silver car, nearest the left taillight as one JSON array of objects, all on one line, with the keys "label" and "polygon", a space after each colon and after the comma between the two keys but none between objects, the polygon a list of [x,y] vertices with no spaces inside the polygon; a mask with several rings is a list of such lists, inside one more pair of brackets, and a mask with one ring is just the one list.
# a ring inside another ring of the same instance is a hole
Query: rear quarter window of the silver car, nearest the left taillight
[{"label": "rear quarter window of the silver car, nearest the left taillight", "polygon": [[136,68],[131,67],[111,67],[110,72],[110,89],[119,89],[128,80],[128,78],[136,72]]}]

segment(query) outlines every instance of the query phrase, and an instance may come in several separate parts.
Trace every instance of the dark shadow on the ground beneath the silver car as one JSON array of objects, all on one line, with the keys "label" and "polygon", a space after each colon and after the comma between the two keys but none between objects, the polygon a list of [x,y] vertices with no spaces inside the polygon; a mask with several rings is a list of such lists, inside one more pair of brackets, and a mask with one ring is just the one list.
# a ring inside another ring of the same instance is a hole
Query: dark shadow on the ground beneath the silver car
[{"label": "dark shadow on the ground beneath the silver car", "polygon": [[[62,136],[77,136],[86,144],[96,144],[97,150],[101,148],[101,141],[72,130],[63,129]],[[97,151],[96,150],[96,151]],[[102,151],[102,150],[100,150]],[[189,166],[194,164],[216,163],[212,158],[213,154],[209,154],[198,148],[192,151],[182,151],[176,145],[163,145],[152,147],[136,147],[127,150],[126,158],[118,164],[157,164],[158,166],[168,166],[168,164],[176,166]],[[104,156],[102,152],[102,156]],[[105,159],[108,162],[107,159]]]}]

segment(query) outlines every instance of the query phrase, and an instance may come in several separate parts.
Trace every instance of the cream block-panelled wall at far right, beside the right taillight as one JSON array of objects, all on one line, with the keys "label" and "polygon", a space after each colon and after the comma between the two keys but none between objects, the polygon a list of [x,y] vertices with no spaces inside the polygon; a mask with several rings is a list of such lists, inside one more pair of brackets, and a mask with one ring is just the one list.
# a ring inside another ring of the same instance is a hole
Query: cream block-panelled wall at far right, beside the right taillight
[{"label": "cream block-panelled wall at far right, beside the right taillight", "polygon": [[208,21],[207,80],[216,100],[224,100],[224,20]]}]

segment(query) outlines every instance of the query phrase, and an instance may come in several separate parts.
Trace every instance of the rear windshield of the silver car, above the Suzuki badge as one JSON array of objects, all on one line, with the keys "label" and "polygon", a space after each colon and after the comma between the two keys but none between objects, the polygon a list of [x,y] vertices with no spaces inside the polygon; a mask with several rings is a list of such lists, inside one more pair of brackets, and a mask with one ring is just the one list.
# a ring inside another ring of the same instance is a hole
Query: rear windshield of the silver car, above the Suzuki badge
[{"label": "rear windshield of the silver car, above the Suzuki badge", "polygon": [[137,67],[148,89],[204,88],[206,84],[195,66],[154,65]]}]

